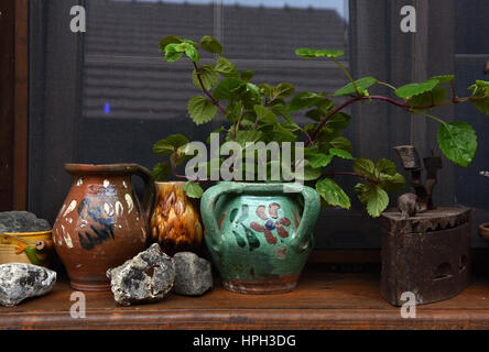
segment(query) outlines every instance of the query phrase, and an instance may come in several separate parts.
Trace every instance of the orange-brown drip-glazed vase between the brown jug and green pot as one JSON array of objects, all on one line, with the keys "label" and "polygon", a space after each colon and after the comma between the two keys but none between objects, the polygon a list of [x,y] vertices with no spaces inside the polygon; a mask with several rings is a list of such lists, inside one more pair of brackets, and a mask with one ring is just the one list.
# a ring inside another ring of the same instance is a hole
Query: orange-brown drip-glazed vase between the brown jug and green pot
[{"label": "orange-brown drip-glazed vase between the brown jug and green pot", "polygon": [[203,240],[200,215],[183,190],[183,182],[155,183],[156,199],[151,217],[151,237],[167,255],[199,252]]}]

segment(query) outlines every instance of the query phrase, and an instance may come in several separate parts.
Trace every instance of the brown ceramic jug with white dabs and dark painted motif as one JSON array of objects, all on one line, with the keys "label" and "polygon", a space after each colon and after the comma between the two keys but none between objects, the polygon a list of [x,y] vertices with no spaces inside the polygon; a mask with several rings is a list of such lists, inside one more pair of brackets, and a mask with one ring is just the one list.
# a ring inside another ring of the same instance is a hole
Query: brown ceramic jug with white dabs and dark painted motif
[{"label": "brown ceramic jug with white dabs and dark painted motif", "polygon": [[[74,180],[53,228],[56,252],[73,288],[108,290],[107,270],[148,248],[153,178],[137,164],[66,164],[65,169]],[[142,209],[132,175],[145,184]]]}]

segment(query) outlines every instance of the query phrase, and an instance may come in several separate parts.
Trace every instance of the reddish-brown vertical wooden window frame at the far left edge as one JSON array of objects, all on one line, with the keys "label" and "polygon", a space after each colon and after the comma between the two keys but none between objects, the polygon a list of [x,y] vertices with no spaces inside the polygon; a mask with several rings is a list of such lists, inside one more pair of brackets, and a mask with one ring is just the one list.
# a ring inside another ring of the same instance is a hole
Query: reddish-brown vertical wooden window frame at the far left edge
[{"label": "reddish-brown vertical wooden window frame at the far left edge", "polygon": [[25,210],[28,189],[29,0],[6,0],[1,16],[0,210]]}]

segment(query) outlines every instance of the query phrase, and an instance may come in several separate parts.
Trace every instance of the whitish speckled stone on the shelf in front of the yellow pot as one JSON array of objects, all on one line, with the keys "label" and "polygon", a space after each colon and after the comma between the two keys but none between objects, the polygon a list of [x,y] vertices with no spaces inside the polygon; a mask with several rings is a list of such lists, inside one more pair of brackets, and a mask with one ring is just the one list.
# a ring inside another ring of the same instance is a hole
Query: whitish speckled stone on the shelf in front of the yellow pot
[{"label": "whitish speckled stone on the shelf in front of the yellow pot", "polygon": [[22,300],[47,294],[56,283],[56,272],[23,263],[0,265],[0,305],[14,307]]}]

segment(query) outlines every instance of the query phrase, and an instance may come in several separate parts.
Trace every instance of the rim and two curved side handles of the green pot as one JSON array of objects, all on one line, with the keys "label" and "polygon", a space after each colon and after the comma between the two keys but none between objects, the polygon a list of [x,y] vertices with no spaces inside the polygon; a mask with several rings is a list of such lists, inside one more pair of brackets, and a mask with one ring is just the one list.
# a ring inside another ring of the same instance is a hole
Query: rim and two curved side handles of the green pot
[{"label": "rim and two curved side handles of the green pot", "polygon": [[[203,221],[206,227],[206,237],[213,250],[219,252],[224,238],[220,234],[217,219],[214,210],[217,200],[227,194],[247,194],[247,195],[263,195],[263,194],[285,194],[284,187],[287,187],[287,194],[300,193],[304,198],[304,211],[302,213],[301,223],[298,224],[295,235],[292,238],[291,246],[297,252],[302,253],[308,249],[312,243],[312,232],[316,223],[316,219],[320,211],[320,199],[317,191],[313,188],[303,186],[301,184],[272,184],[263,187],[260,184],[238,184],[238,183],[221,183],[217,186],[210,187],[202,198],[200,212]],[[314,221],[305,221],[306,219],[314,219]]]}]

